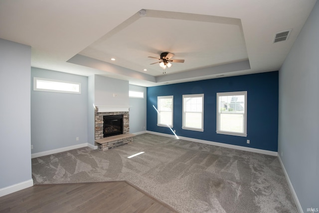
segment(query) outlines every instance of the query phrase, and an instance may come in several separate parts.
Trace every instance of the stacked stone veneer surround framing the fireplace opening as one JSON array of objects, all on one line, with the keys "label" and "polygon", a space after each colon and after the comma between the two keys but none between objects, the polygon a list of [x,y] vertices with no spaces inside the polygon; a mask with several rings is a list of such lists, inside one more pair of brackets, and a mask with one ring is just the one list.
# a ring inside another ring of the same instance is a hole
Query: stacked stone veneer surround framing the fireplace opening
[{"label": "stacked stone veneer surround framing the fireplace opening", "polygon": [[103,116],[104,115],[123,115],[123,134],[130,133],[129,112],[98,112],[95,108],[95,140],[103,138]]}]

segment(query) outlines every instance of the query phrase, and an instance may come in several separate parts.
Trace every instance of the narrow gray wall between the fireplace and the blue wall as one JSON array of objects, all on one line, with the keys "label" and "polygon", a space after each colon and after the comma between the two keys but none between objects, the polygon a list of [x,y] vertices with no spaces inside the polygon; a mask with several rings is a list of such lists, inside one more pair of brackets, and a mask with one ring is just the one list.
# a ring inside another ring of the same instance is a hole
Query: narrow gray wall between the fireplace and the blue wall
[{"label": "narrow gray wall between the fireplace and the blue wall", "polygon": [[129,85],[130,90],[144,92],[144,98],[130,98],[130,133],[146,131],[147,88]]}]

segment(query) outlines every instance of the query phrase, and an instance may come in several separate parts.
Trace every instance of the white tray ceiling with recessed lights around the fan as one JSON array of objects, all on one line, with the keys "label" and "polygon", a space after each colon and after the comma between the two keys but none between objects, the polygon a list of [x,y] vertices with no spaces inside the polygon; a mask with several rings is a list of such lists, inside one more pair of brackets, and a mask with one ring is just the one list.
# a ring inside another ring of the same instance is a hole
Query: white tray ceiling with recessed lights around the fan
[{"label": "white tray ceiling with recessed lights around the fan", "polygon": [[[30,45],[33,67],[155,86],[279,70],[315,3],[0,0],[0,38]],[[163,74],[148,56],[166,51],[185,62]]]}]

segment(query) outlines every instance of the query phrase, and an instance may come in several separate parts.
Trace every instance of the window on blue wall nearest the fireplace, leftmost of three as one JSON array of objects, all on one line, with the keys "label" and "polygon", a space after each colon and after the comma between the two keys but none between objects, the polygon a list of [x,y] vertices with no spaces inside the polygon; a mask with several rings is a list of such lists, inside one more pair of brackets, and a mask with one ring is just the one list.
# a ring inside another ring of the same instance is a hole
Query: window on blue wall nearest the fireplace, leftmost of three
[{"label": "window on blue wall nearest the fireplace, leftmost of three", "polygon": [[173,96],[158,96],[158,126],[173,127]]}]

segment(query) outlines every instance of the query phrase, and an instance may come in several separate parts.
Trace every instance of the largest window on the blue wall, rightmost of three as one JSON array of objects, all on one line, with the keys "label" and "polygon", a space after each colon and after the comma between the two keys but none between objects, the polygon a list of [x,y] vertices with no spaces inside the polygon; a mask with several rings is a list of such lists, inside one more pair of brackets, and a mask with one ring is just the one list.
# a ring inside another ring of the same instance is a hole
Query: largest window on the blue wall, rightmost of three
[{"label": "largest window on the blue wall, rightmost of three", "polygon": [[247,91],[217,93],[218,134],[247,136]]}]

